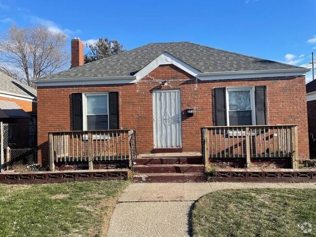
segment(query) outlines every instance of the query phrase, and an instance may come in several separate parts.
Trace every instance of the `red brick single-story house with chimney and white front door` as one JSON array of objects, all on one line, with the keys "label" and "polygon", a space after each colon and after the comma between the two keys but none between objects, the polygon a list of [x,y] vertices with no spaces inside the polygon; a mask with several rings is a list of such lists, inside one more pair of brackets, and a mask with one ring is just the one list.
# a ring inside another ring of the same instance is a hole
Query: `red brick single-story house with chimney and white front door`
[{"label": "red brick single-story house with chimney and white front door", "polygon": [[309,157],[309,69],[190,42],[152,43],[83,65],[82,42],[71,43],[72,68],[35,82],[42,165],[48,132],[132,129],[138,153],[201,152],[201,128],[228,125],[298,124],[298,157]]}]

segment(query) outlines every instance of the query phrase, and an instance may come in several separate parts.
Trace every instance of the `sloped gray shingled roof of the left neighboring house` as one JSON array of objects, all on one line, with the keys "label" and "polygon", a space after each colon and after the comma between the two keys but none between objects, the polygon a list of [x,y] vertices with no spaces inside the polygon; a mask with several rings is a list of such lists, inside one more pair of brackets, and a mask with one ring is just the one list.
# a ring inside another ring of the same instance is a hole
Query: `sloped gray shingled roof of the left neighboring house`
[{"label": "sloped gray shingled roof of the left neighboring house", "polygon": [[36,89],[0,72],[0,91],[36,97]]}]

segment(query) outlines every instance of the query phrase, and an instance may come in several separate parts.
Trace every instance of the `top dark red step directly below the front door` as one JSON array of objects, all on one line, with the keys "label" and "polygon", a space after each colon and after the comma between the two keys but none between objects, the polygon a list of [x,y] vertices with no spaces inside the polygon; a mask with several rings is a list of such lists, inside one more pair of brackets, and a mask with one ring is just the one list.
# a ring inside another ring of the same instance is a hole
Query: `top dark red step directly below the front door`
[{"label": "top dark red step directly below the front door", "polygon": [[137,165],[174,165],[174,164],[203,164],[201,156],[189,157],[140,157],[134,160]]}]

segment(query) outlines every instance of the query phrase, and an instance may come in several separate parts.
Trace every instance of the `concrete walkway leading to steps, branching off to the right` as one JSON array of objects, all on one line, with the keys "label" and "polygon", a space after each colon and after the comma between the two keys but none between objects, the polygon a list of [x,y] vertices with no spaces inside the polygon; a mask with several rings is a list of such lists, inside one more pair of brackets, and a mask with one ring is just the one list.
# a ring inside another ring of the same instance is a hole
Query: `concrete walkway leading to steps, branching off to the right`
[{"label": "concrete walkway leading to steps, branching off to the right", "polygon": [[107,237],[188,237],[194,202],[222,189],[316,188],[316,183],[130,184],[110,220]]}]

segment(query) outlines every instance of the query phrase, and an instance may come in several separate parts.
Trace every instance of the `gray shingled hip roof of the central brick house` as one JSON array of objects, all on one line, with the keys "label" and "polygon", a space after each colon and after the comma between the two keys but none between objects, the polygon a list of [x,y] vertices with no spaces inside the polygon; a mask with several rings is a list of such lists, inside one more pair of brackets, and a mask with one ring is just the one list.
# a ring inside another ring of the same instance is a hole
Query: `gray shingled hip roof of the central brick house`
[{"label": "gray shingled hip roof of the central brick house", "polygon": [[174,42],[147,44],[119,55],[50,75],[45,79],[134,75],[163,52],[172,54],[200,72],[300,68],[190,42]]}]

